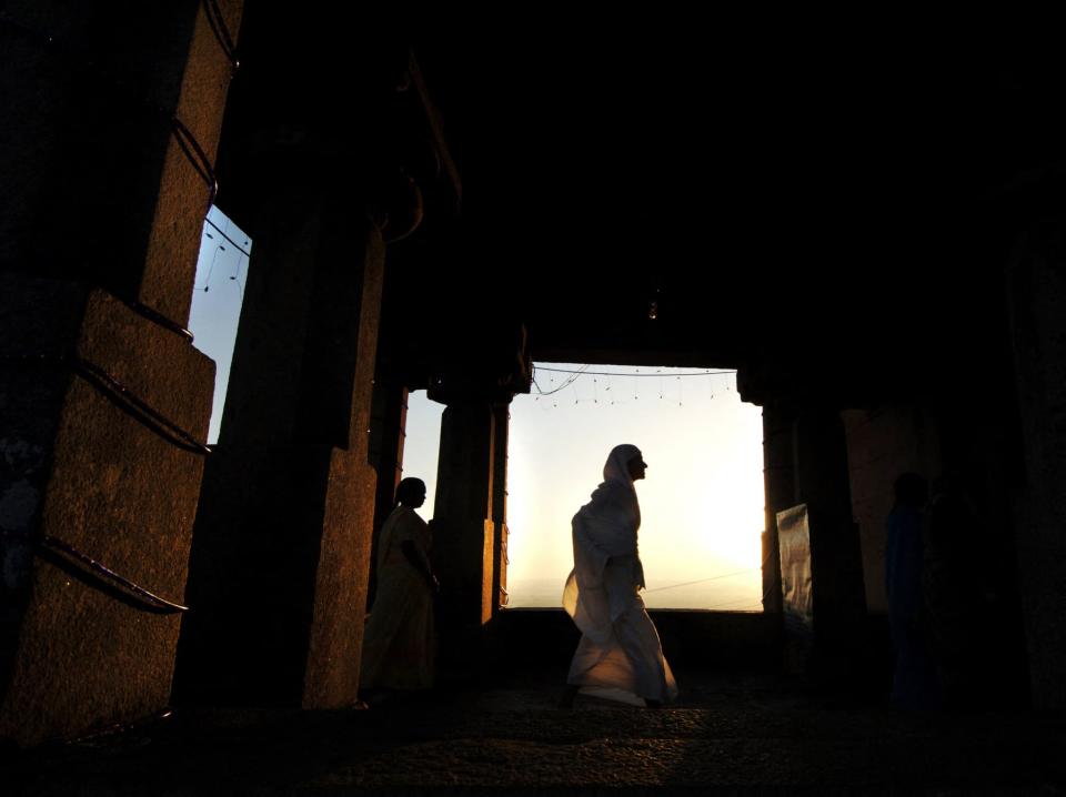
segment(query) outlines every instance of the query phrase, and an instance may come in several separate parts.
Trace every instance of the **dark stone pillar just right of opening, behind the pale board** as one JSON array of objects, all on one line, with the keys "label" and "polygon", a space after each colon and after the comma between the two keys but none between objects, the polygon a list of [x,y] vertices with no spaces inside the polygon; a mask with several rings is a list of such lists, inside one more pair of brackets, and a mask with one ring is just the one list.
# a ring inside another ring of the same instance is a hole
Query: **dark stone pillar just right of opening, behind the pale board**
[{"label": "dark stone pillar just right of opening, behind the pale board", "polygon": [[[858,528],[852,519],[847,444],[841,414],[803,407],[793,424],[795,504],[807,505],[816,664],[851,664],[865,628]],[[826,669],[823,669],[826,672]]]}]

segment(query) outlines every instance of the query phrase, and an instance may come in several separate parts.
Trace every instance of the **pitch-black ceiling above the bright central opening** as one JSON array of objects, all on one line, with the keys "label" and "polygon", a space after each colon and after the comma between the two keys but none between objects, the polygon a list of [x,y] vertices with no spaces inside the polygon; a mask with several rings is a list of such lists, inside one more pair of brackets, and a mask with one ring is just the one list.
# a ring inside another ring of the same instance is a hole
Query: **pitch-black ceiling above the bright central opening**
[{"label": "pitch-black ceiling above the bright central opening", "polygon": [[331,13],[249,2],[242,40],[274,60],[283,40],[279,74],[349,140],[374,123],[353,75],[412,46],[462,210],[429,184],[391,248],[409,351],[514,319],[572,361],[979,347],[1010,185],[1066,161],[1062,48],[995,19],[449,12],[389,37]]}]

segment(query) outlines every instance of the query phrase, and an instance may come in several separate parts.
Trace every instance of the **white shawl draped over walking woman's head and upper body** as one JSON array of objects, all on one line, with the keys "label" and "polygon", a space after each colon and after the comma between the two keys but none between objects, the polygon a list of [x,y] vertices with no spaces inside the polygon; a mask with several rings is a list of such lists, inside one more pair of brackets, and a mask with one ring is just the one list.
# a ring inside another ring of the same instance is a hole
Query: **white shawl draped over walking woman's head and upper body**
[{"label": "white shawl draped over walking woman's head and upper body", "polygon": [[641,452],[633,445],[611,452],[603,483],[571,523],[574,569],[563,589],[563,608],[582,634],[597,644],[606,643],[611,624],[644,586],[636,544],[641,507],[626,466],[634,456]]}]

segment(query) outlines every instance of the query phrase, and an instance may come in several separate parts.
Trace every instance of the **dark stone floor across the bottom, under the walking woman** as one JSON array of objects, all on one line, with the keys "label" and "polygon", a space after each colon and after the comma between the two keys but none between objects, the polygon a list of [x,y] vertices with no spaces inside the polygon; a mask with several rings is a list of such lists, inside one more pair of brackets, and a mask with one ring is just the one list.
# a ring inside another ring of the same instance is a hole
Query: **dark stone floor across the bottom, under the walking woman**
[{"label": "dark stone floor across the bottom, under the walking woman", "polygon": [[0,757],[6,795],[1066,795],[1066,717],[906,714],[774,674],[678,673],[651,710],[544,674],[370,710],[175,709]]}]

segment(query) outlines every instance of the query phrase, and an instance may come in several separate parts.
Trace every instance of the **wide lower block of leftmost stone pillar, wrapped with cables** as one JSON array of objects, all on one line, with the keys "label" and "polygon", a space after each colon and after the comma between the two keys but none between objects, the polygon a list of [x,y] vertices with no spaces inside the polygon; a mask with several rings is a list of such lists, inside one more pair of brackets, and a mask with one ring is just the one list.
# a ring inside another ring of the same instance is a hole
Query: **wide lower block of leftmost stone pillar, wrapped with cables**
[{"label": "wide lower block of leftmost stone pillar, wrapped with cables", "polygon": [[[39,300],[23,305],[23,313],[52,323],[39,330],[40,339],[23,336],[32,325],[7,324],[0,337],[21,344],[16,346],[20,354],[74,352],[203,440],[213,363],[101,291],[89,293],[80,319],[71,317],[81,307],[71,297],[79,295],[84,293],[78,286],[56,285],[49,293],[41,283],[22,281],[12,296]],[[77,334],[64,342],[71,327]],[[29,397],[63,386],[38,381]],[[6,393],[4,401],[17,406],[24,398]],[[34,486],[37,506],[27,504],[23,521],[37,538],[54,536],[151,592],[182,602],[203,457],[163,440],[80,376],[66,382],[61,397],[47,396],[38,412],[59,406],[53,437],[32,443],[48,452],[49,468],[44,484]],[[47,417],[37,416],[38,428],[48,425]],[[42,557],[32,565],[28,587],[0,736],[31,744],[167,705],[177,616],[115,599]]]}]

